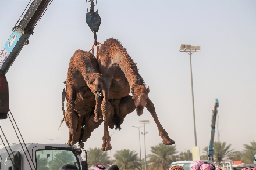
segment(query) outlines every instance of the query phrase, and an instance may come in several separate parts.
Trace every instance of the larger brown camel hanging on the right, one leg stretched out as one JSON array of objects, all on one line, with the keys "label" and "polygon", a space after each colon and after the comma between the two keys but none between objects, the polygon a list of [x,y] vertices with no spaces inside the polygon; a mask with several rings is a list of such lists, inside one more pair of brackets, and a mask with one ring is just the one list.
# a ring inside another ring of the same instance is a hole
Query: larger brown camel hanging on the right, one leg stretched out
[{"label": "larger brown camel hanging on the right, one leg stretched out", "polygon": [[[148,97],[150,89],[146,88],[143,78],[138,73],[136,64],[133,62],[133,59],[131,59],[126,49],[123,48],[118,40],[110,38],[101,45],[98,63],[99,72],[104,78],[105,97],[101,104],[103,116],[106,117],[109,114],[109,99],[121,99],[121,97],[129,95],[131,92],[133,95],[132,100],[129,97],[127,99],[129,99],[129,102],[133,101],[134,105],[130,104],[127,107],[129,107],[130,110],[135,110],[136,108],[137,115],[139,116],[143,114],[144,107],[147,107],[148,111],[150,111],[152,117],[154,118],[155,123],[157,124],[159,135],[163,139],[163,144],[175,144],[175,142],[169,138],[168,133],[165,131],[165,129],[163,129],[157,118],[154,104]],[[126,81],[128,83],[126,83]],[[120,84],[122,88],[112,91],[112,84]],[[128,89],[130,89],[130,91],[128,91]],[[115,106],[116,113],[120,113],[118,102],[115,103],[113,103],[113,105]],[[125,115],[130,113],[130,111],[125,112],[126,113],[123,113],[123,115],[121,114],[121,120],[125,117]],[[110,146],[110,136],[108,131],[104,131],[104,136],[102,139],[104,143],[101,150],[109,150],[108,146]]]}]

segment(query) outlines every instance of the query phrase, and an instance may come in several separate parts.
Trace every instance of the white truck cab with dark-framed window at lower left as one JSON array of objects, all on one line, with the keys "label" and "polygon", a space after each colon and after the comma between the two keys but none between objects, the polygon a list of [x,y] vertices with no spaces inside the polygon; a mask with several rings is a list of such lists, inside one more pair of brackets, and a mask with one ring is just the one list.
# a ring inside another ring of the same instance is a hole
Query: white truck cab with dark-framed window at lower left
[{"label": "white truck cab with dark-framed window at lower left", "polygon": [[59,170],[66,164],[88,170],[81,153],[65,143],[0,144],[1,170]]}]

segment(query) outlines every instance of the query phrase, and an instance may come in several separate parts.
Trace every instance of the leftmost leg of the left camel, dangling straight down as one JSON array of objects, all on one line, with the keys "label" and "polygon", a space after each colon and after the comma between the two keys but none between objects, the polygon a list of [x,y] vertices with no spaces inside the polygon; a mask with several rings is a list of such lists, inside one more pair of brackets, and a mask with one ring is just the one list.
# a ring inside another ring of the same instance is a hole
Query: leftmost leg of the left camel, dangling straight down
[{"label": "leftmost leg of the left camel, dangling straight down", "polygon": [[67,141],[67,145],[73,145],[77,142],[77,123],[78,123],[78,115],[74,112],[74,101],[76,100],[76,90],[73,85],[67,85],[67,110],[65,113],[65,122],[69,128],[69,140]]}]

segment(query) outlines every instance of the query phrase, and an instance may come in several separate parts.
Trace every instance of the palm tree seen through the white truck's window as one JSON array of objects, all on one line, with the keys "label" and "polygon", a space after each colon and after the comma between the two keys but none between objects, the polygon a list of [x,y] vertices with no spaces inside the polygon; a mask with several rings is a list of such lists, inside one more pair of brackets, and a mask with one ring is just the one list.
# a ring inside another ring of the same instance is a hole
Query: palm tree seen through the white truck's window
[{"label": "palm tree seen through the white truck's window", "polygon": [[56,151],[57,154],[54,155],[54,159],[49,161],[49,167],[52,170],[59,170],[63,165],[73,164],[76,162],[76,157],[71,151]]}]

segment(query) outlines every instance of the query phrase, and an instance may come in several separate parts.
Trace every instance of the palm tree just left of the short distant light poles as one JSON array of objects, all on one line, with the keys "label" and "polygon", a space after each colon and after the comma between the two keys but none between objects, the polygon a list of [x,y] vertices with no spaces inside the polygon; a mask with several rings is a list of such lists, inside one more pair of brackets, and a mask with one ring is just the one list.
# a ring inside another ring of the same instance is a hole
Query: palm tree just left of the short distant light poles
[{"label": "palm tree just left of the short distant light poles", "polygon": [[118,165],[119,169],[139,169],[140,168],[140,158],[138,154],[133,150],[130,151],[129,149],[123,149],[116,151],[115,155],[115,162]]}]

